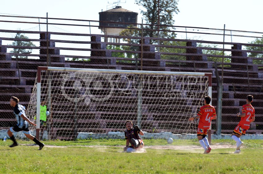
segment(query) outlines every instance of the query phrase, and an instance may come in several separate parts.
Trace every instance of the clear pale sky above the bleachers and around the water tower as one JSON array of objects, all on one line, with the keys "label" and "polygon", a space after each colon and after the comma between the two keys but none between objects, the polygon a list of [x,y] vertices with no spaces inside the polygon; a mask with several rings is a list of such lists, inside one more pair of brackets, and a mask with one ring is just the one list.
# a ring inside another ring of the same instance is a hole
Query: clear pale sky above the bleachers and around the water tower
[{"label": "clear pale sky above the bleachers and around the water tower", "polygon": [[[99,20],[98,13],[106,11],[107,6],[110,8],[112,2],[118,0],[4,0],[1,1],[0,15],[46,17],[48,13],[49,18]],[[138,23],[141,23],[142,6],[136,5],[134,0],[120,2],[124,9],[138,12]],[[262,0],[179,0],[180,12],[174,15],[174,25],[223,29],[226,24],[226,29],[263,32],[262,7]],[[0,28],[24,30],[27,27],[23,24],[0,23]],[[75,33],[73,30],[68,29]],[[100,32],[98,28],[92,30],[92,34]]]}]

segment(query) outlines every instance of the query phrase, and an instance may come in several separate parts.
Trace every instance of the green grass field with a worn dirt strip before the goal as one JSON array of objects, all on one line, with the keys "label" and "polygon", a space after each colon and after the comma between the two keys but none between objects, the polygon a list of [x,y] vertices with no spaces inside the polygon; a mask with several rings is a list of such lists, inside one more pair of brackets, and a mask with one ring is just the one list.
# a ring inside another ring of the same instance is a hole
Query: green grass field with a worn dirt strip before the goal
[{"label": "green grass field with a worn dirt strip before the goal", "polygon": [[244,140],[240,154],[233,154],[233,140],[212,140],[210,154],[202,154],[197,140],[145,139],[144,153],[123,153],[124,140],[44,143],[38,151],[32,141],[13,148],[11,140],[1,141],[0,173],[263,173],[262,140]]}]

